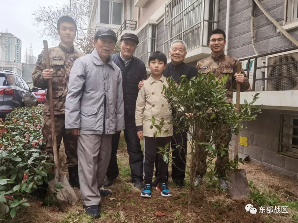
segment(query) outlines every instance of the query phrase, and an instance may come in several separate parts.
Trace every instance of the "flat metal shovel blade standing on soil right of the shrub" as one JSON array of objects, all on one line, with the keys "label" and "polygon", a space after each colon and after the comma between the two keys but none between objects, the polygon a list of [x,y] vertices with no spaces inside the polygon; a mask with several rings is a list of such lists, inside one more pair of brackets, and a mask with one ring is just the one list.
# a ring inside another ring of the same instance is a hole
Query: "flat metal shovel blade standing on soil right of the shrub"
[{"label": "flat metal shovel blade standing on soil right of the shrub", "polygon": [[244,169],[235,169],[230,173],[229,178],[230,181],[227,183],[232,199],[240,200],[252,196]]}]

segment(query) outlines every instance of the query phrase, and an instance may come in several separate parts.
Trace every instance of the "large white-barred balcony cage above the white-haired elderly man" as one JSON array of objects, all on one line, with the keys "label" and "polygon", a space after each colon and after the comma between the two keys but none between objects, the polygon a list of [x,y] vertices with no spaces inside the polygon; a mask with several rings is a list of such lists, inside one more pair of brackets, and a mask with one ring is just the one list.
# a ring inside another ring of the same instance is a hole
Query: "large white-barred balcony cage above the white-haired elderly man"
[{"label": "large white-barred balcony cage above the white-haired elderly man", "polygon": [[209,33],[218,26],[218,1],[172,0],[164,15],[164,52],[177,39],[184,40],[190,51],[207,46]]}]

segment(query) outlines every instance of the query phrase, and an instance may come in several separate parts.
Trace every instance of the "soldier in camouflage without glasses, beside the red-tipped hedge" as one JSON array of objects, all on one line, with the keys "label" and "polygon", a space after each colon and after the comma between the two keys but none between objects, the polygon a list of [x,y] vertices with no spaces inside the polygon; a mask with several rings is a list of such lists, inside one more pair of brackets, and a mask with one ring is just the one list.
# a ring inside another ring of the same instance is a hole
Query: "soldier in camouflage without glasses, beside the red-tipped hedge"
[{"label": "soldier in camouflage without glasses, beside the red-tipped hedge", "polygon": [[[85,54],[74,49],[73,41],[75,39],[77,25],[71,17],[62,16],[57,22],[57,29],[61,42],[59,46],[49,48],[51,69],[46,69],[44,51],[42,51],[41,54],[38,55],[38,60],[32,73],[32,80],[35,87],[46,89],[48,87],[47,80],[52,79],[57,148],[59,151],[61,140],[63,138],[67,156],[66,165],[69,170],[69,183],[71,186],[79,188],[77,138],[71,134],[71,131],[65,130],[64,118],[69,72],[74,61]],[[44,103],[42,134],[46,143],[45,150],[53,155],[48,94],[46,95]]]}]

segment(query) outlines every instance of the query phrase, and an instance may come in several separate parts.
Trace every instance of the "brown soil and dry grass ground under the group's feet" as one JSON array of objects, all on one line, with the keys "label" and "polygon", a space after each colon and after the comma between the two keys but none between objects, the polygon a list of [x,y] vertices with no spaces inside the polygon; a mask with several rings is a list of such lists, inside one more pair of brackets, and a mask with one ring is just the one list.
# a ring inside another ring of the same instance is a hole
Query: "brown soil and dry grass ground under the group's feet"
[{"label": "brown soil and dry grass ground under the group's feet", "polygon": [[[219,190],[206,179],[195,191],[193,213],[188,213],[188,179],[183,189],[176,188],[170,180],[172,197],[164,198],[153,190],[152,198],[142,198],[140,191],[130,181],[125,146],[119,148],[117,157],[120,174],[108,188],[113,194],[102,201],[100,219],[87,216],[81,202],[62,213],[55,207],[44,207],[40,201],[35,201],[19,212],[12,222],[298,222],[297,208],[288,209],[289,213],[283,214],[246,212],[245,205],[258,207],[257,203],[249,198],[231,200],[227,191]],[[60,163],[63,172],[67,172],[63,146],[60,148]],[[276,194],[280,202],[297,201],[298,185],[294,179],[270,172],[257,164],[247,163],[240,168],[246,170],[248,180],[260,193]]]}]

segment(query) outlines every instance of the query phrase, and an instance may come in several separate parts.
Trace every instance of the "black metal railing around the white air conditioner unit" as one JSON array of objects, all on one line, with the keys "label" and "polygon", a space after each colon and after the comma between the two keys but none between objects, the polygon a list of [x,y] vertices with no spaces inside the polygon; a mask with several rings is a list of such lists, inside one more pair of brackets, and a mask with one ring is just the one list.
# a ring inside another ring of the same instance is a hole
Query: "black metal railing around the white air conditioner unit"
[{"label": "black metal railing around the white air conditioner unit", "polygon": [[[298,51],[294,51],[297,49],[292,47],[239,59],[240,62],[246,62],[244,71],[249,79],[252,78],[250,90],[298,90]],[[261,60],[265,66],[260,63]]]}]

